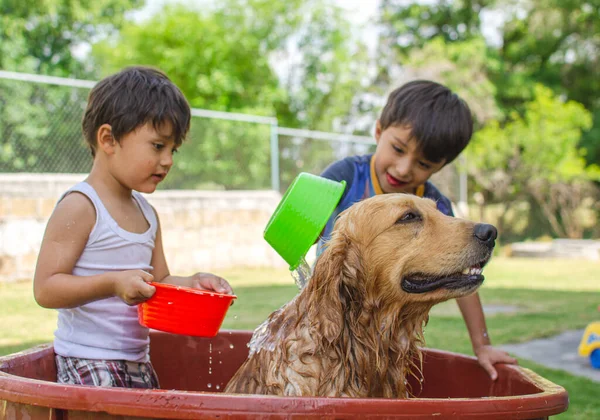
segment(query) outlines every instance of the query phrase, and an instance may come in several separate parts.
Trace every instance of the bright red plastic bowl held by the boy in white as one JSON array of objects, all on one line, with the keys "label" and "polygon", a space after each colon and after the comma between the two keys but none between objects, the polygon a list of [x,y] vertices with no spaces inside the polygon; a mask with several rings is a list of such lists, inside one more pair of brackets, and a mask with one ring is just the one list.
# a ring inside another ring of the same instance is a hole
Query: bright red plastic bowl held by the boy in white
[{"label": "bright red plastic bowl held by the boy in white", "polygon": [[197,337],[219,332],[235,295],[151,283],[156,293],[138,305],[140,324],[155,330]]}]

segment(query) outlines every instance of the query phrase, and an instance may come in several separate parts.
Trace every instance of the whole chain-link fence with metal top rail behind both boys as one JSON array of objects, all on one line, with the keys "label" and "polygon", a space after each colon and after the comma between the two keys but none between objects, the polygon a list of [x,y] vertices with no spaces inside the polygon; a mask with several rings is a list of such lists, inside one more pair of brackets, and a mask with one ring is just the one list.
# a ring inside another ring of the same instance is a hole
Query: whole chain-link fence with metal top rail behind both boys
[{"label": "whole chain-link fence with metal top rail behind both boys", "polygon": [[[0,173],[85,173],[92,157],[81,118],[93,81],[0,71]],[[278,127],[274,118],[192,110],[191,130],[161,189],[275,188],[321,173],[346,156],[372,153],[369,137]],[[453,201],[450,165],[436,185]]]}]

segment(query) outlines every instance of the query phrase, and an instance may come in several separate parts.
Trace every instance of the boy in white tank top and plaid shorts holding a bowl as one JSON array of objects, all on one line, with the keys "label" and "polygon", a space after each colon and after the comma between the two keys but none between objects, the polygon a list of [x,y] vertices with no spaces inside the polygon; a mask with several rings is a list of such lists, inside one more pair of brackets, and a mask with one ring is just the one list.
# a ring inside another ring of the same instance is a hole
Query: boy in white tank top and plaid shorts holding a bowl
[{"label": "boy in white tank top and plaid shorts holding a bowl", "polygon": [[126,68],[90,92],[92,170],[56,205],[33,285],[38,304],[59,312],[59,383],[158,388],[135,306],[154,294],[149,283],[232,293],[212,274],[169,273],[158,215],[140,194],[165,179],[189,126],[187,101],[158,70]]}]

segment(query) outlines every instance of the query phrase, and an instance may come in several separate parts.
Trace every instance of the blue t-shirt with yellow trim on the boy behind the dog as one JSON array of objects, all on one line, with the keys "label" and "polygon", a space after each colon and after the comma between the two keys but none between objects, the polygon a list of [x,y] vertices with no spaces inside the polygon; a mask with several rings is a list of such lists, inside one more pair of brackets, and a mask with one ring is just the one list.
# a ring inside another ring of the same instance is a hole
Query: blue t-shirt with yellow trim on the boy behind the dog
[{"label": "blue t-shirt with yellow trim on the boy behind the dog", "polygon": [[[334,181],[346,181],[346,189],[337,207],[325,225],[323,234],[317,244],[317,255],[323,251],[325,243],[331,237],[333,223],[341,212],[352,204],[381,194],[379,181],[371,169],[373,155],[351,156],[332,163],[323,171],[322,177]],[[417,195],[430,198],[436,202],[439,211],[448,216],[454,216],[450,200],[444,196],[431,182],[427,181],[417,190]]]}]

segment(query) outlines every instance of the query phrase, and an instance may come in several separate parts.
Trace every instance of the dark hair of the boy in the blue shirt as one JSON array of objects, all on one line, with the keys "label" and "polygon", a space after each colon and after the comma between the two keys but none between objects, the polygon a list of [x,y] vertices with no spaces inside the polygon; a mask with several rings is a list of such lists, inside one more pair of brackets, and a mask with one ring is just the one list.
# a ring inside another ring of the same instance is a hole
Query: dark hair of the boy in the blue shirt
[{"label": "dark hair of the boy in the blue shirt", "polygon": [[410,125],[419,149],[432,162],[453,161],[473,135],[467,103],[446,86],[428,80],[409,82],[390,93],[379,123],[382,131]]}]

